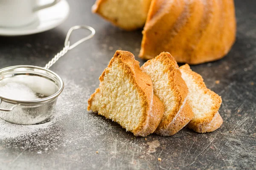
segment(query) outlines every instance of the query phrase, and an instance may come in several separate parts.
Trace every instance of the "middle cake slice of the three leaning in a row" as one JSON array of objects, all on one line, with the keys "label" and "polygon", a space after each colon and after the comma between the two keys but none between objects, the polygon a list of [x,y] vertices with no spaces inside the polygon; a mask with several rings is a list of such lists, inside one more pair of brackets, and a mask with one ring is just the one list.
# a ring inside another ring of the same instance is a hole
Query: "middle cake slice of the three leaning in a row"
[{"label": "middle cake slice of the three leaning in a row", "polygon": [[162,136],[177,133],[192,119],[193,113],[186,100],[188,88],[181,78],[179,66],[171,54],[163,52],[141,67],[153,82],[154,94],[165,107],[160,124],[155,131]]}]

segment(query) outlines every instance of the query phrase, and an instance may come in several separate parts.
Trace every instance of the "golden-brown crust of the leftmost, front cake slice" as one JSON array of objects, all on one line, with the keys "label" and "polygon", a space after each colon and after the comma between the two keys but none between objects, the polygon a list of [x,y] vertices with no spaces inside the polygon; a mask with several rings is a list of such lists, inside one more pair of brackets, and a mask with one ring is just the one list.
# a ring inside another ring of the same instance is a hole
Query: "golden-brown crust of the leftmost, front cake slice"
[{"label": "golden-brown crust of the leftmost, front cake slice", "polygon": [[[105,74],[108,74],[109,68],[111,68],[114,61],[117,61],[124,69],[125,76],[131,78],[131,83],[137,89],[142,98],[142,107],[144,108],[143,118],[132,133],[134,133],[135,136],[147,136],[154,132],[160,122],[160,119],[162,119],[164,112],[163,103],[160,102],[156,96],[153,96],[153,85],[150,77],[140,70],[139,62],[136,61],[134,59],[134,55],[128,51],[116,51],[108,65],[108,68],[106,68],[99,77],[100,82],[104,81]],[[97,88],[95,93],[92,94],[88,100],[88,111],[91,110],[92,101],[96,93],[99,93],[99,91],[100,89]]]}]

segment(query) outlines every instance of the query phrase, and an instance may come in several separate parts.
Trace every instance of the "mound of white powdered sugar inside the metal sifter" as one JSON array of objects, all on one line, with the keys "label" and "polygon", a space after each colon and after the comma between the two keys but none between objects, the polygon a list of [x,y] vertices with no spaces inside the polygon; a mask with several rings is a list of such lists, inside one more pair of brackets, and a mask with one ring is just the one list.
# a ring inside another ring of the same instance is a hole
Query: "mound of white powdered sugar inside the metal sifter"
[{"label": "mound of white powdered sugar inside the metal sifter", "polygon": [[28,86],[22,83],[10,82],[0,86],[0,96],[14,100],[36,100],[38,96]]}]

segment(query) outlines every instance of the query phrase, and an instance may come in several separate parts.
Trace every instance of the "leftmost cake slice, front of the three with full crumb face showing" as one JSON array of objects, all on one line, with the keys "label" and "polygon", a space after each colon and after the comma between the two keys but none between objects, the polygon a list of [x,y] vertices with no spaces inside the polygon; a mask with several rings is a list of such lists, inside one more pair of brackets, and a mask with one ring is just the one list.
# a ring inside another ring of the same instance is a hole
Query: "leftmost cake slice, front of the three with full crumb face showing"
[{"label": "leftmost cake slice, front of the three with full crumb face showing", "polygon": [[153,94],[150,77],[128,51],[116,51],[99,77],[100,85],[88,101],[88,111],[119,123],[134,136],[147,136],[159,125],[163,103]]}]

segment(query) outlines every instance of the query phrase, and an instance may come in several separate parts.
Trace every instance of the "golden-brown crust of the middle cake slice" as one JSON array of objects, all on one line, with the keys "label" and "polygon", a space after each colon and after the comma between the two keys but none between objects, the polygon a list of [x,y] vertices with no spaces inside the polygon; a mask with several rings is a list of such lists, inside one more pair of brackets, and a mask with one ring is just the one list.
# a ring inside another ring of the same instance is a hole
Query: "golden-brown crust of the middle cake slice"
[{"label": "golden-brown crust of the middle cake slice", "polygon": [[151,62],[158,60],[166,67],[166,73],[168,74],[169,84],[172,87],[172,92],[175,96],[175,106],[172,109],[172,113],[169,114],[166,119],[162,119],[157,127],[155,133],[162,136],[170,136],[181,130],[192,119],[193,113],[191,108],[185,101],[188,94],[188,88],[186,83],[181,78],[181,73],[177,62],[171,54],[162,52],[155,59],[148,60],[143,66],[150,65]]}]

